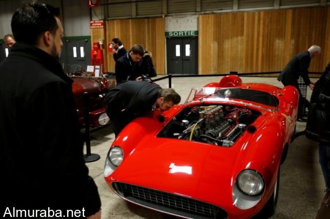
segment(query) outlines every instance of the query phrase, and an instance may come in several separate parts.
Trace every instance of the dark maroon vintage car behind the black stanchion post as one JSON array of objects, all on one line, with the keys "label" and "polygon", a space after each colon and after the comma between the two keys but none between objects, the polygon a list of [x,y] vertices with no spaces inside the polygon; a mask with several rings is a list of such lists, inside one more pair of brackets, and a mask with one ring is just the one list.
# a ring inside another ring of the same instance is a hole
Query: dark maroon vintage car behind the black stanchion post
[{"label": "dark maroon vintage car behind the black stanchion post", "polygon": [[[73,79],[72,92],[80,128],[85,127],[86,101],[88,102],[90,128],[108,124],[109,117],[106,114],[104,97],[107,90],[115,86],[114,77],[103,75],[99,78],[88,76],[71,76],[71,78]],[[84,97],[85,93],[88,93],[87,97]]]}]

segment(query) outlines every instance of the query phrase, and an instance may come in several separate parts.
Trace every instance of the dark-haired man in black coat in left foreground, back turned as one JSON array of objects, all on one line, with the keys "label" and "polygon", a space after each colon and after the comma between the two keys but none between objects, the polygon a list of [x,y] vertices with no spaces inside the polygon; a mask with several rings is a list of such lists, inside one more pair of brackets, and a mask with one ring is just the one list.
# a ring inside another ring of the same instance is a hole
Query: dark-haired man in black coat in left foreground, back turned
[{"label": "dark-haired man in black coat in left foreground, back turned", "polygon": [[11,20],[17,42],[0,64],[0,208],[5,216],[15,208],[44,210],[46,217],[72,218],[67,210],[73,210],[79,213],[75,216],[100,218],[99,194],[83,158],[72,80],[58,62],[63,46],[58,15],[59,9],[29,3]]}]

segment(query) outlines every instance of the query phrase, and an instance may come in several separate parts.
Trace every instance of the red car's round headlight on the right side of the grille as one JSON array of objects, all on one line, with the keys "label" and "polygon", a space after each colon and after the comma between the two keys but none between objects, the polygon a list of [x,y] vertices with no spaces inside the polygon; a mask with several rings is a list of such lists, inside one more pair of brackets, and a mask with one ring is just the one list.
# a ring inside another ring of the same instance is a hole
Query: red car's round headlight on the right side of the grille
[{"label": "red car's round headlight on the right side of the grille", "polygon": [[254,170],[243,170],[237,177],[238,188],[248,195],[257,195],[263,190],[263,180],[260,174]]}]

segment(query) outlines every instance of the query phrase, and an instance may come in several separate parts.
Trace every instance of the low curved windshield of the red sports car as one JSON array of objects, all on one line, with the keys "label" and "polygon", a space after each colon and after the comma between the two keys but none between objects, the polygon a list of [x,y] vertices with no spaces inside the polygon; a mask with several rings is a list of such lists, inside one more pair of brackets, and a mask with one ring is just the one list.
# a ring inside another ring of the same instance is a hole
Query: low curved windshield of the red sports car
[{"label": "low curved windshield of the red sports car", "polygon": [[193,99],[203,100],[205,98],[239,99],[260,103],[267,106],[278,106],[279,104],[277,97],[270,93],[237,87],[202,87],[200,90],[192,89],[186,102]]}]

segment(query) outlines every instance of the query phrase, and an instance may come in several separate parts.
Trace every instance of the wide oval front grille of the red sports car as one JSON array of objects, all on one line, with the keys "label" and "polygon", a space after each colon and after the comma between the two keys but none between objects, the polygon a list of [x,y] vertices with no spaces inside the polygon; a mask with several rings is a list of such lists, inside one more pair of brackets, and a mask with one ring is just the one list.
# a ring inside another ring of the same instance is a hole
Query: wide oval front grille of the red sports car
[{"label": "wide oval front grille of the red sports car", "polygon": [[192,218],[227,217],[221,208],[182,195],[120,182],[111,185],[122,198],[162,212]]}]

